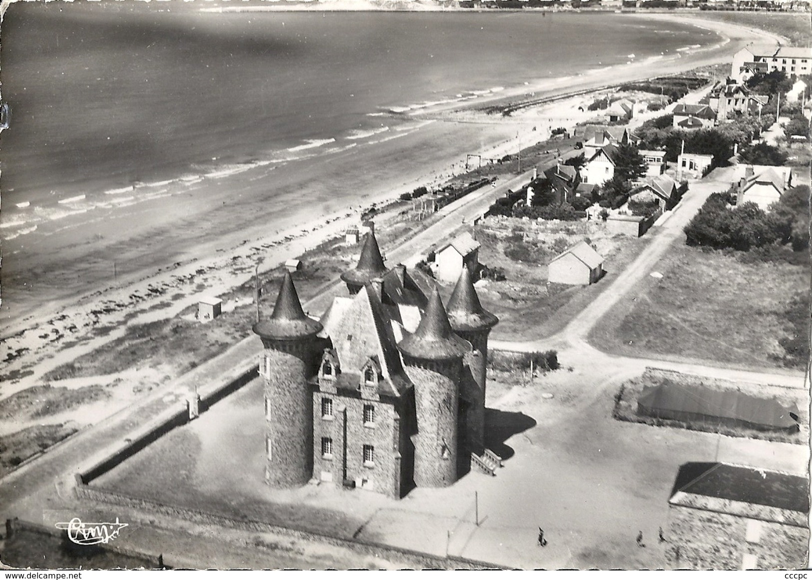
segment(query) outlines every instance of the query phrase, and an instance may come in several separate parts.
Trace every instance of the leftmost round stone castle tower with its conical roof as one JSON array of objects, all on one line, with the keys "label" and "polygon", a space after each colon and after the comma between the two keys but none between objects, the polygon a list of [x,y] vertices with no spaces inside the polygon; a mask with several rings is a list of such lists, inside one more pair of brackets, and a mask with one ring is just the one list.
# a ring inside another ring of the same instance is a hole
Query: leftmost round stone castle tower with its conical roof
[{"label": "leftmost round stone castle tower with its conical roof", "polygon": [[253,331],[264,350],[266,482],[298,487],[313,476],[313,397],[308,379],[318,365],[317,333],[322,325],[302,310],[287,272],[270,318]]}]

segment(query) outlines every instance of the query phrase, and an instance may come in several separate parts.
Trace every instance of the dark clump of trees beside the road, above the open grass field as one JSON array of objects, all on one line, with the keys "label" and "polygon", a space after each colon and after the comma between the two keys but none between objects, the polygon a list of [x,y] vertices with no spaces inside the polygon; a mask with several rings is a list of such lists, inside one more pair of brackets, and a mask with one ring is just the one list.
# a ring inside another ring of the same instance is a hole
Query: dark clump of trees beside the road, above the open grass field
[{"label": "dark clump of trees beside the road, above the open grass field", "polygon": [[754,203],[731,207],[732,193],[712,193],[685,227],[685,243],[715,249],[749,251],[768,245],[809,248],[810,189],[788,189],[765,212]]}]

